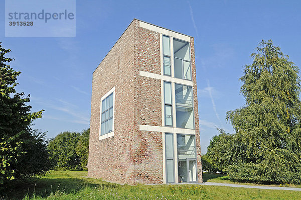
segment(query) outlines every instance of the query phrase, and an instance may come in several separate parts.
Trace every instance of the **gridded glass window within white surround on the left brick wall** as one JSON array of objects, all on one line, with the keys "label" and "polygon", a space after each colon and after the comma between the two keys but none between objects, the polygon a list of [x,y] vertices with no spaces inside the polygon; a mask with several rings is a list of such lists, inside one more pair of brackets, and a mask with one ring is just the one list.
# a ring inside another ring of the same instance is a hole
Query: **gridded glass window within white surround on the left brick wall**
[{"label": "gridded glass window within white surround on the left brick wall", "polygon": [[104,135],[113,131],[113,94],[109,94],[101,102],[101,132]]}]

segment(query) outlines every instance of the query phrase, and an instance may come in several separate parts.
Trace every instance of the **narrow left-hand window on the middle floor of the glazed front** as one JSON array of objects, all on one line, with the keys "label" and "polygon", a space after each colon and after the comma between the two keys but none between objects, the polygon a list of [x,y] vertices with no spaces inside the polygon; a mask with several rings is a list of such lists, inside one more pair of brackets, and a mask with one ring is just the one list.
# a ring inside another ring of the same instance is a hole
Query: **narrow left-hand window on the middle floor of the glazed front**
[{"label": "narrow left-hand window on the middle floor of the glazed front", "polygon": [[173,126],[172,83],[164,82],[165,126]]}]

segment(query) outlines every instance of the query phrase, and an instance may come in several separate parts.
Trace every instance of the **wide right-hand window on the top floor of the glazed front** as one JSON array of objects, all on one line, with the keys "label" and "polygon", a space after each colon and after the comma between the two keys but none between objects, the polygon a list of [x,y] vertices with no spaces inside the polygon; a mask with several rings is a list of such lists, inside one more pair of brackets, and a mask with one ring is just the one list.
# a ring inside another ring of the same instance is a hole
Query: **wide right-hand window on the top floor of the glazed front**
[{"label": "wide right-hand window on the top floor of the glazed front", "polygon": [[175,77],[191,80],[189,42],[174,39]]}]

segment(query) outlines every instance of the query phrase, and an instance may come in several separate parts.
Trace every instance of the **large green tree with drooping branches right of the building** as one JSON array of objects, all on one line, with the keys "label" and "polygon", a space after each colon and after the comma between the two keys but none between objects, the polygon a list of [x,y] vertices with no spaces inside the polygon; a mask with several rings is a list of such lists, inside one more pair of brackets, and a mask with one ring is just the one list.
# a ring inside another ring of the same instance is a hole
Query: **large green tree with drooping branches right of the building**
[{"label": "large green tree with drooping branches right of the building", "polygon": [[229,175],[240,180],[301,183],[298,67],[271,40],[262,40],[256,51],[240,78],[246,105],[226,116],[235,130],[237,147]]}]

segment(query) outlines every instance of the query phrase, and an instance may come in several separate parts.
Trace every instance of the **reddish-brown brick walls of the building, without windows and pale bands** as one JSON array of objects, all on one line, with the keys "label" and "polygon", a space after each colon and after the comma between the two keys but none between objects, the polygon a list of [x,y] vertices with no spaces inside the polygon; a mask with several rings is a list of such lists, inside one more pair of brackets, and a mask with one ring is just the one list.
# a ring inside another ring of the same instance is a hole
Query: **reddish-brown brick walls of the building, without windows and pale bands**
[{"label": "reddish-brown brick walls of the building, without windows and pale bands", "polygon": [[[191,37],[198,181],[202,182],[194,39]],[[88,176],[127,184],[164,183],[160,33],[133,20],[93,73]],[[101,97],[115,87],[114,136],[99,140]]]}]

